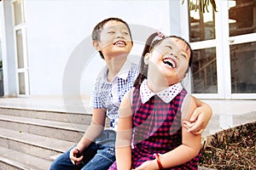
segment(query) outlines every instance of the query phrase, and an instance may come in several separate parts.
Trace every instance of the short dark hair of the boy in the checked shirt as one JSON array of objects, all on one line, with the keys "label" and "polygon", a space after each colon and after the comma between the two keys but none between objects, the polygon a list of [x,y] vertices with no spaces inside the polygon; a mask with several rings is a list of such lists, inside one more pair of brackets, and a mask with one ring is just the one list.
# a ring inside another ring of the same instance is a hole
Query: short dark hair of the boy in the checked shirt
[{"label": "short dark hair of the boy in the checked shirt", "polygon": [[[100,23],[98,23],[92,33],[91,33],[91,38],[92,38],[92,41],[100,41],[100,37],[101,37],[101,33],[102,33],[102,30],[103,30],[103,26],[110,20],[115,20],[115,21],[119,21],[119,22],[122,22],[125,24],[125,26],[128,28],[128,31],[129,31],[129,34],[130,34],[130,37],[131,37],[131,29],[130,27],[128,26],[128,24],[124,21],[124,20],[121,20],[119,18],[108,18],[108,19],[105,19],[105,20],[102,20]],[[131,37],[131,42],[132,42],[132,37]],[[104,55],[102,54],[102,51],[99,51],[102,59],[104,59]]]}]

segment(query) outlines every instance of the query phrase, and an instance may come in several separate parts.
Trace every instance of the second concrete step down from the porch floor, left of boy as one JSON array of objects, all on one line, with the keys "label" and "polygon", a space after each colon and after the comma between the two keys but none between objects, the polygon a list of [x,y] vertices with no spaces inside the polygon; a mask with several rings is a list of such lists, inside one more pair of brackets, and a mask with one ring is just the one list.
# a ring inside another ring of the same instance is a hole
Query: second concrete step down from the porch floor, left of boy
[{"label": "second concrete step down from the porch floor, left of boy", "polygon": [[52,156],[65,152],[74,144],[66,140],[0,128],[0,146],[49,161],[52,161]]}]

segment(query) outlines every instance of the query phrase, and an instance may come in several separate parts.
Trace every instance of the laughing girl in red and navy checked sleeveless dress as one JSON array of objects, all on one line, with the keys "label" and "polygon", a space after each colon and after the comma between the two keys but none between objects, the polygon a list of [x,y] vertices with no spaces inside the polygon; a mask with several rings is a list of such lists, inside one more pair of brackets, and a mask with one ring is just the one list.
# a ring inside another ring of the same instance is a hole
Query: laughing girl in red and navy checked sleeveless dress
[{"label": "laughing girl in red and navy checked sleeveless dress", "polygon": [[120,105],[116,164],[110,169],[197,169],[201,134],[182,126],[196,108],[181,85],[191,60],[183,38],[148,37],[140,74]]}]

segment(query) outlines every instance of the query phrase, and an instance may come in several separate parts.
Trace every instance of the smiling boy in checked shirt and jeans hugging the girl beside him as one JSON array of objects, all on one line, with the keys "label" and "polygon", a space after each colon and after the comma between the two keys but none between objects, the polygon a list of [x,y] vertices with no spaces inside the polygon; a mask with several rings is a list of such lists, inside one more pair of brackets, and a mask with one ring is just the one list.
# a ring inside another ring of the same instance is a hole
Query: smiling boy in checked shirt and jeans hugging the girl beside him
[{"label": "smiling boy in checked shirt and jeans hugging the girl beside him", "polygon": [[[96,80],[92,94],[93,115],[90,127],[86,129],[79,143],[57,157],[50,169],[108,169],[115,161],[115,137],[118,110],[121,99],[133,86],[138,74],[138,65],[127,56],[133,46],[131,31],[124,20],[108,18],[102,20],[92,32],[92,44],[106,61],[106,67]],[[196,99],[198,109],[194,112],[197,122],[186,122],[193,133],[201,133],[212,116],[212,110]],[[202,113],[202,114],[201,114]],[[105,129],[106,116],[110,129]]]}]

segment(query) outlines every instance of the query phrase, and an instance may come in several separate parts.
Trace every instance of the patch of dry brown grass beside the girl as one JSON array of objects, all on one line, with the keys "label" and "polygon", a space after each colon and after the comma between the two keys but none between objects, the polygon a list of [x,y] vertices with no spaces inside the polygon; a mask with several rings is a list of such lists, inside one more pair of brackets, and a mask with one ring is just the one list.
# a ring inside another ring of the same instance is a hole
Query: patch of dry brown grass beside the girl
[{"label": "patch of dry brown grass beside the girl", "polygon": [[201,153],[201,167],[256,169],[256,122],[214,134]]}]

